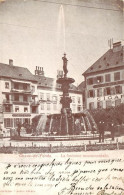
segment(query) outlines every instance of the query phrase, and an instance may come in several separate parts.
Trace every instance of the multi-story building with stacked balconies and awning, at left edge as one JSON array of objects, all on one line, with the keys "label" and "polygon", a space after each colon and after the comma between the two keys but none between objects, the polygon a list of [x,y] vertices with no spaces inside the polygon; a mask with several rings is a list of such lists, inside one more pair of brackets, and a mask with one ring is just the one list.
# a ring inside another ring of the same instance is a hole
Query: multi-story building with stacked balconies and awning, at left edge
[{"label": "multi-story building with stacked balconies and awning, at left edge", "polygon": [[32,110],[37,107],[37,81],[23,67],[0,63],[0,123],[3,129],[17,126],[18,121],[30,122]]}]

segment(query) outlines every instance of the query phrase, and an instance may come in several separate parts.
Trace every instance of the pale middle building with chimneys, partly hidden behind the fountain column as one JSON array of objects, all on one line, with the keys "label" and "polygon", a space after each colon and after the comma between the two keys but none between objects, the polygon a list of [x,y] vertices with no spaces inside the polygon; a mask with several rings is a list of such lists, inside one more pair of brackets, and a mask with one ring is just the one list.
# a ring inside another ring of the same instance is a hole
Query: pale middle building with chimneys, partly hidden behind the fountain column
[{"label": "pale middle building with chimneys, partly hidden behind the fountain column", "polygon": [[[62,76],[62,71],[59,71]],[[37,91],[38,91],[38,100],[39,114],[54,114],[61,112],[61,103],[60,99],[62,96],[61,85],[56,83],[56,79],[45,77],[43,68],[36,67],[35,70],[35,78],[38,81]],[[69,96],[72,99],[72,103],[70,105],[72,112],[79,112],[83,108],[82,103],[82,92],[73,84],[70,85]]]}]

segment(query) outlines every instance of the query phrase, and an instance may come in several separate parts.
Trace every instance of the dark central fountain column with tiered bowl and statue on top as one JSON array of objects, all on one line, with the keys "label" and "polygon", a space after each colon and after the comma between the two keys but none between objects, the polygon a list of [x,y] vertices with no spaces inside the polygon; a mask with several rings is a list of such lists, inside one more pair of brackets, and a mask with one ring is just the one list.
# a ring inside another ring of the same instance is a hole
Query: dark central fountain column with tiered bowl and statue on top
[{"label": "dark central fountain column with tiered bowl and statue on top", "polygon": [[62,57],[63,60],[63,71],[64,71],[64,77],[59,78],[57,80],[57,83],[61,84],[62,89],[62,97],[60,100],[60,103],[62,104],[61,109],[61,129],[60,134],[61,135],[68,135],[73,134],[73,116],[72,116],[72,110],[70,108],[70,103],[72,102],[71,97],[69,97],[69,87],[70,84],[73,83],[75,80],[73,78],[67,77],[67,58],[66,54]]}]

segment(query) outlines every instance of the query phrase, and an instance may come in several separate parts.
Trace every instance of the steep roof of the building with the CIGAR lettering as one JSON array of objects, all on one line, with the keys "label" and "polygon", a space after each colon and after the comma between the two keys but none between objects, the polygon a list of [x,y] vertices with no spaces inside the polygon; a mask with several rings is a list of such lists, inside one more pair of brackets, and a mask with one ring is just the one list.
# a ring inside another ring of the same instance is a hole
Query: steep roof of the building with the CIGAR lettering
[{"label": "steep roof of the building with the CIGAR lettering", "polygon": [[120,50],[114,51],[109,49],[102,57],[100,57],[92,66],[90,66],[83,75],[95,73],[99,71],[109,70],[111,68],[119,67],[124,65],[123,56],[124,50],[121,46]]}]

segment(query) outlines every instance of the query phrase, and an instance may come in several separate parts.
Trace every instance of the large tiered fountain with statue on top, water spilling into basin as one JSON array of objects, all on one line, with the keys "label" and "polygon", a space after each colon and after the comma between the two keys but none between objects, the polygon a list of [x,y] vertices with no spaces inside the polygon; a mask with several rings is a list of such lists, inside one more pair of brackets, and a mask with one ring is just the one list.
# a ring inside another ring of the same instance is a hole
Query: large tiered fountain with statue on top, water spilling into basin
[{"label": "large tiered fountain with statue on top, water spilling into basin", "polygon": [[[32,119],[35,124],[30,135],[21,135],[19,140],[75,140],[75,139],[94,139],[97,125],[90,113],[86,110],[79,113],[72,113],[70,104],[72,102],[69,96],[70,84],[74,83],[73,78],[67,76],[67,58],[66,54],[62,57],[64,75],[57,79],[61,85],[62,96],[60,103],[62,105],[59,114],[39,115]],[[14,137],[13,137],[14,138]],[[14,139],[17,139],[14,138]]]}]

